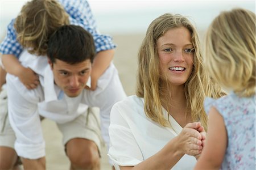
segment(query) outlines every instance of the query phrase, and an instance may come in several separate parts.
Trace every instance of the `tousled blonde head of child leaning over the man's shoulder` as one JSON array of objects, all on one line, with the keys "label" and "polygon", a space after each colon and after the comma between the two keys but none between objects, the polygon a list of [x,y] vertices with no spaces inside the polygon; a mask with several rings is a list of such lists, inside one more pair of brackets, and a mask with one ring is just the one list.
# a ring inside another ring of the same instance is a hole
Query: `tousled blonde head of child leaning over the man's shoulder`
[{"label": "tousled blonde head of child leaning over the man's shoulder", "polygon": [[27,2],[15,20],[19,43],[28,52],[45,55],[49,36],[61,25],[69,24],[68,14],[55,0]]}]

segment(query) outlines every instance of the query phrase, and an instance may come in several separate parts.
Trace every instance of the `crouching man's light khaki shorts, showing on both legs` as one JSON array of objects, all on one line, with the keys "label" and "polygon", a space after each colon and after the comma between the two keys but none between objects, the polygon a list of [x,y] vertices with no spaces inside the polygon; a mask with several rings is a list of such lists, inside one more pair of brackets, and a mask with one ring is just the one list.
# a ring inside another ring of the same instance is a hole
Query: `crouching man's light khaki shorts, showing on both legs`
[{"label": "crouching man's light khaki shorts, showing on both legs", "polygon": [[[7,92],[0,92],[0,146],[14,148],[15,133],[9,123],[7,114]],[[73,138],[85,138],[96,143],[101,155],[101,146],[104,144],[100,129],[100,109],[88,110],[71,122],[57,124],[63,134],[63,145]]]}]

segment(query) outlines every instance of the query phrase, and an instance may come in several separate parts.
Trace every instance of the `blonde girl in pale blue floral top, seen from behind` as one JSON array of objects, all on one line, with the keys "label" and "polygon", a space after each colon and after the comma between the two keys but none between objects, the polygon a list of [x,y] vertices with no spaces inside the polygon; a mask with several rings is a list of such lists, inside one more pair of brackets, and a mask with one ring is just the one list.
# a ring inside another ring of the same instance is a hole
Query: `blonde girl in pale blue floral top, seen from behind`
[{"label": "blonde girl in pale blue floral top, seen from behind", "polygon": [[255,169],[256,15],[222,12],[208,28],[205,65],[232,92],[207,99],[207,141],[195,169]]}]

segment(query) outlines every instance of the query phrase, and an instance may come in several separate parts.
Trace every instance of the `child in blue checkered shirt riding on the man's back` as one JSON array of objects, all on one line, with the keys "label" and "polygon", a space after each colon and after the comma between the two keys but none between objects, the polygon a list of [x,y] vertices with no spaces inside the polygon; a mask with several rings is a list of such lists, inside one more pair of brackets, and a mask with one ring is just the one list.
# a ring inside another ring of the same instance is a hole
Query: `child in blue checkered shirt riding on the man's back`
[{"label": "child in blue checkered shirt riding on the man's back", "polygon": [[[39,2],[42,2],[42,6],[28,8],[29,6],[36,6]],[[34,0],[22,8],[18,18],[9,24],[7,36],[0,45],[0,53],[3,54],[3,66],[7,73],[18,76],[28,89],[36,88],[39,84],[38,75],[30,68],[20,65],[17,59],[23,48],[32,48],[30,53],[43,56],[46,54],[48,36],[57,27],[69,23],[80,25],[93,35],[96,45],[97,55],[92,67],[90,87],[90,90],[95,90],[98,78],[113,59],[115,45],[111,37],[100,35],[97,31],[96,22],[87,1],[59,0],[59,2]],[[42,10],[42,8],[46,8],[46,10]],[[18,35],[16,35],[17,29],[19,29]],[[27,44],[31,46],[23,46],[25,42],[18,42],[22,36],[26,37],[27,42],[30,41]],[[1,79],[4,77],[1,76]]]}]

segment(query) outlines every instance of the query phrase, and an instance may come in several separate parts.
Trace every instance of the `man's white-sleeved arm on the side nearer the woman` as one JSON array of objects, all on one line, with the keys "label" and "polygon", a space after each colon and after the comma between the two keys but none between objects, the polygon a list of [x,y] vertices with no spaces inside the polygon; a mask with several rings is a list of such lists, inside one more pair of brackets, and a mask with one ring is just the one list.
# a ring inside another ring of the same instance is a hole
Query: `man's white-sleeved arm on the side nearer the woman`
[{"label": "man's white-sleeved arm on the side nearer the woman", "polygon": [[100,76],[97,89],[86,91],[84,97],[85,104],[100,108],[102,137],[109,147],[110,111],[117,101],[126,97],[118,71],[113,64],[110,64],[109,68]]}]

